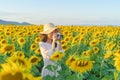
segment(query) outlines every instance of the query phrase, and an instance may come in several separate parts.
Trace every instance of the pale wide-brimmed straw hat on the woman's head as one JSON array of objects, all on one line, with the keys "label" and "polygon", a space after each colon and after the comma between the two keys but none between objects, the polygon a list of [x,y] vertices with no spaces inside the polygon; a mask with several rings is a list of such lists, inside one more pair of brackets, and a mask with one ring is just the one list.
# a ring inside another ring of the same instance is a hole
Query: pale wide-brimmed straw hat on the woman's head
[{"label": "pale wide-brimmed straw hat on the woman's head", "polygon": [[53,23],[48,23],[44,25],[44,31],[40,32],[39,34],[49,34],[55,29],[59,29],[59,28],[57,28]]}]

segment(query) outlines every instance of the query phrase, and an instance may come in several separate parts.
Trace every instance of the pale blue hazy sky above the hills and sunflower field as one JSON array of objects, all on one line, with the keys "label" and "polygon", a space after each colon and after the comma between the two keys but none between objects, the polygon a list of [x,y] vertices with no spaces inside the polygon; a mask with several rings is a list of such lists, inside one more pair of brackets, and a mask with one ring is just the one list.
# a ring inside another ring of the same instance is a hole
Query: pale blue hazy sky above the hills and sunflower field
[{"label": "pale blue hazy sky above the hills and sunflower field", "polygon": [[38,25],[120,25],[120,0],[0,0],[0,19]]}]

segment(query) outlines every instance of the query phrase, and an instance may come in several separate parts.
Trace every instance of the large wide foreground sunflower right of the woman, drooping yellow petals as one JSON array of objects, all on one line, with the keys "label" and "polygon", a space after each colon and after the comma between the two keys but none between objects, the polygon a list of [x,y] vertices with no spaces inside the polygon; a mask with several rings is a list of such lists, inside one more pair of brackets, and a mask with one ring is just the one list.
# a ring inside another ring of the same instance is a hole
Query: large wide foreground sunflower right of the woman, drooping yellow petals
[{"label": "large wide foreground sunflower right of the woman, drooping yellow petals", "polygon": [[76,60],[71,63],[69,68],[72,71],[79,72],[79,73],[84,73],[86,71],[90,71],[93,67],[93,62],[89,60]]}]

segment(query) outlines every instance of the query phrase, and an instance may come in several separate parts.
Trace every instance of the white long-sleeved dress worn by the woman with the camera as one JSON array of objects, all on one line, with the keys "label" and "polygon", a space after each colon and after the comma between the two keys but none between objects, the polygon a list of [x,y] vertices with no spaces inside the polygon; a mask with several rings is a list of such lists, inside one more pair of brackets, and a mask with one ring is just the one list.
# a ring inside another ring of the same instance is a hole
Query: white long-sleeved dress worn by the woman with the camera
[{"label": "white long-sleeved dress worn by the woman with the camera", "polygon": [[[55,48],[55,51],[58,50],[58,45],[59,43],[57,42],[57,47]],[[43,61],[44,61],[44,66],[42,68],[42,72],[41,72],[41,76],[54,76],[55,74],[51,71],[49,71],[48,69],[46,69],[46,67],[48,65],[54,65],[54,62],[52,62],[49,57],[52,55],[53,50],[52,50],[52,44],[50,43],[46,43],[46,42],[39,42],[39,47],[40,47],[40,51],[43,57]],[[64,52],[64,50],[59,50]],[[61,67],[58,67],[58,70],[61,70]],[[58,74],[57,74],[58,75]],[[56,76],[56,75],[55,75]]]}]

